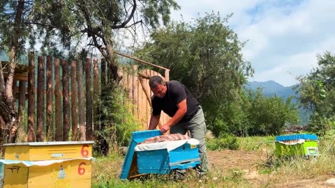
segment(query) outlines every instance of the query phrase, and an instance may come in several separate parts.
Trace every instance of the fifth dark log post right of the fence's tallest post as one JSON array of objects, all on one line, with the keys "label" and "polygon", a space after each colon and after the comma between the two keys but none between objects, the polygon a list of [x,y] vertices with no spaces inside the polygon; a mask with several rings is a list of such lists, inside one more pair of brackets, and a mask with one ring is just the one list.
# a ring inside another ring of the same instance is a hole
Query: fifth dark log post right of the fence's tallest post
[{"label": "fifth dark log post right of the fence's tallest post", "polygon": [[72,141],[77,140],[78,136],[78,109],[77,109],[77,65],[75,61],[71,63],[71,111],[72,111]]}]

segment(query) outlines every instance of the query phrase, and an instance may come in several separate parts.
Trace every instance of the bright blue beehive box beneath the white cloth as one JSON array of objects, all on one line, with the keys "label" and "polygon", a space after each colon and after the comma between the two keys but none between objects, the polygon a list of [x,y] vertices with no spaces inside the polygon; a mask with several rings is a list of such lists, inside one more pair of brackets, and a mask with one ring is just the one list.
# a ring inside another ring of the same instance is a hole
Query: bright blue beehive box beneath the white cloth
[{"label": "bright blue beehive box beneath the white cloth", "polygon": [[168,151],[137,151],[137,167],[139,173],[169,174],[174,169],[189,169],[200,164],[198,146],[184,145]]}]

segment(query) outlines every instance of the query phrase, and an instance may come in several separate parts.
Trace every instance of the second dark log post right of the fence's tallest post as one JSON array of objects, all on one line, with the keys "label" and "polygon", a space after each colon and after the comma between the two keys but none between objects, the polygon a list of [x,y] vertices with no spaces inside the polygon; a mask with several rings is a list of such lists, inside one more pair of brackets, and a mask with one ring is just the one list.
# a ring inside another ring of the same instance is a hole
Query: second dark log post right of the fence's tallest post
[{"label": "second dark log post right of the fence's tallest post", "polygon": [[54,141],[54,123],[52,121],[52,56],[47,56],[47,141]]}]

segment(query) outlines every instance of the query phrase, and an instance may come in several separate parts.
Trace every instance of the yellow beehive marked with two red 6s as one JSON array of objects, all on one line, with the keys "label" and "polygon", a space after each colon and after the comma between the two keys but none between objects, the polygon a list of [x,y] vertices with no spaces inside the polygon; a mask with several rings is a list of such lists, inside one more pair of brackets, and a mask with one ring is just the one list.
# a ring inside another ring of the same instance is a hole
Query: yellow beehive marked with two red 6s
[{"label": "yellow beehive marked with two red 6s", "polygon": [[93,143],[6,144],[3,187],[91,187]]}]

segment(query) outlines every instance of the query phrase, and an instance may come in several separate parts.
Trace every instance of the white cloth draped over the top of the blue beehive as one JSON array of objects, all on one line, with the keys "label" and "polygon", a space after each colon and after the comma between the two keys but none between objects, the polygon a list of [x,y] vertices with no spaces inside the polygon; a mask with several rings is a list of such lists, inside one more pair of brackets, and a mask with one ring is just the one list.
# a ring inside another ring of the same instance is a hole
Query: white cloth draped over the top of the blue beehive
[{"label": "white cloth draped over the top of the blue beehive", "polygon": [[166,149],[168,152],[170,150],[174,150],[179,146],[183,146],[185,143],[189,143],[191,145],[198,145],[199,141],[197,139],[185,139],[185,140],[177,140],[177,141],[163,141],[156,143],[142,143],[140,145],[135,146],[135,151],[148,151],[148,150],[163,150]]}]

